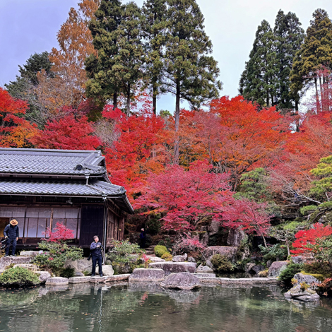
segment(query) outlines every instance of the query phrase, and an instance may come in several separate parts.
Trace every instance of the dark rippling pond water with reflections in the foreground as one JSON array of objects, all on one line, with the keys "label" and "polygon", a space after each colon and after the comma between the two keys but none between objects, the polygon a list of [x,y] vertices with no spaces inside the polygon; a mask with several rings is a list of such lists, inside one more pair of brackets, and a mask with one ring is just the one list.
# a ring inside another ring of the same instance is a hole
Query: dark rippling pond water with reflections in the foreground
[{"label": "dark rippling pond water with reflections in the foreground", "polygon": [[289,302],[278,286],[165,291],[143,285],[0,291],[8,332],[331,332],[332,301]]}]

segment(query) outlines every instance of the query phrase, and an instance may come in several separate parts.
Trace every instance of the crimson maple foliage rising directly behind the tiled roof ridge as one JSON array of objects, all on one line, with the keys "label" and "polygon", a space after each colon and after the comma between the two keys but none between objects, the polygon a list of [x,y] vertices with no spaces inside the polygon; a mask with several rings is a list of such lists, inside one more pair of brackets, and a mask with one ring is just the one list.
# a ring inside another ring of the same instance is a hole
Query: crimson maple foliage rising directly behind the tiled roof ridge
[{"label": "crimson maple foliage rising directly behind the tiled roof ridge", "polygon": [[73,115],[47,122],[45,129],[38,131],[30,142],[37,148],[64,150],[95,150],[100,146],[88,118],[75,119]]}]

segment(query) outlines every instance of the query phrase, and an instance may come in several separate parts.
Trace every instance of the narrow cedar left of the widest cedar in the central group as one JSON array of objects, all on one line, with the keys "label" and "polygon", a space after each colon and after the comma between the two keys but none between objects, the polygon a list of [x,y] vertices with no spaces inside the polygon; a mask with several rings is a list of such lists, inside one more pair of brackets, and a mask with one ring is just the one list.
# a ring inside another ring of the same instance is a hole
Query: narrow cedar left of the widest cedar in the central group
[{"label": "narrow cedar left of the widest cedar in the central group", "polygon": [[163,49],[166,43],[167,1],[146,0],[142,8],[144,51],[146,53],[146,82],[152,90],[153,112],[156,114],[157,98],[162,92],[164,69]]}]

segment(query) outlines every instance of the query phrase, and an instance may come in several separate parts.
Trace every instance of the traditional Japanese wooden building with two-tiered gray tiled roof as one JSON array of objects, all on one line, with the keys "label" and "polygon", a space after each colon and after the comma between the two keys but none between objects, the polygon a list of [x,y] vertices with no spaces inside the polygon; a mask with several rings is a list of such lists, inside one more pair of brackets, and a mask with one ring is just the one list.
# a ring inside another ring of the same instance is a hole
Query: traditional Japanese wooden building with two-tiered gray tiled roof
[{"label": "traditional Japanese wooden building with two-tiered gray tiled roof", "polygon": [[18,247],[35,247],[58,222],[78,246],[98,235],[109,247],[123,239],[126,213],[126,190],[109,181],[100,151],[0,148],[0,236],[18,220]]}]

